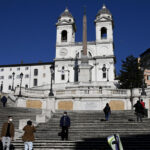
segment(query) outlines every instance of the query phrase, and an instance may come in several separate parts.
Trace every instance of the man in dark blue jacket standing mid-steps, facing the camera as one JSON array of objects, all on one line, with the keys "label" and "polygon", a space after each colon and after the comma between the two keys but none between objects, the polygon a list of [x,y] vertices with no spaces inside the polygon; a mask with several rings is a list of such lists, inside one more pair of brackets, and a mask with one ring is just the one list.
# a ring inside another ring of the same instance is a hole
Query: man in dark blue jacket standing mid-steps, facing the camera
[{"label": "man in dark blue jacket standing mid-steps, facing the camera", "polygon": [[68,140],[68,128],[70,127],[70,118],[67,116],[67,112],[60,118],[60,127],[62,128],[61,139]]}]

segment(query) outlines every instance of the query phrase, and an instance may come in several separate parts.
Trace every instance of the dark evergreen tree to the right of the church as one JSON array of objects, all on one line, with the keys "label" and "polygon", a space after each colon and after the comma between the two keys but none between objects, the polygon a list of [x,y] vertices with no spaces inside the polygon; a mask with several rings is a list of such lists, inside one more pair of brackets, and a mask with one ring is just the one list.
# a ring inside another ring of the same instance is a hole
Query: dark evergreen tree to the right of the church
[{"label": "dark evergreen tree to the right of the church", "polygon": [[131,89],[142,87],[143,74],[140,70],[138,60],[133,55],[122,60],[122,69],[120,70],[119,81],[120,88]]}]

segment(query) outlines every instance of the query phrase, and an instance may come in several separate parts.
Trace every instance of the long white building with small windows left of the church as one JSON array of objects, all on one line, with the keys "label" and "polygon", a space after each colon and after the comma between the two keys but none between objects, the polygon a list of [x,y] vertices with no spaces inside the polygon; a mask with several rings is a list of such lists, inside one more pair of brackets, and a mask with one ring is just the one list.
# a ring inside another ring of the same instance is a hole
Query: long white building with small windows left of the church
[{"label": "long white building with small windows left of the church", "polygon": [[20,74],[23,73],[21,87],[33,88],[50,84],[51,73],[48,63],[14,64],[0,66],[0,89],[10,93],[20,87]]}]

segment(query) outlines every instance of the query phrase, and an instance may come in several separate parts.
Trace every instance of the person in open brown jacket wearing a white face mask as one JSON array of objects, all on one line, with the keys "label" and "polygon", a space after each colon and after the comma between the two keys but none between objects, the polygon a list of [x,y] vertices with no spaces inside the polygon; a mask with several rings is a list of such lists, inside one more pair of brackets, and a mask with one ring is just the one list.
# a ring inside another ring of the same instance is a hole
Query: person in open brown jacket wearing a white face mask
[{"label": "person in open brown jacket wearing a white face mask", "polygon": [[3,149],[9,150],[11,141],[14,140],[14,124],[12,123],[13,117],[8,116],[8,121],[3,124],[2,130],[1,130],[1,140],[3,143]]}]

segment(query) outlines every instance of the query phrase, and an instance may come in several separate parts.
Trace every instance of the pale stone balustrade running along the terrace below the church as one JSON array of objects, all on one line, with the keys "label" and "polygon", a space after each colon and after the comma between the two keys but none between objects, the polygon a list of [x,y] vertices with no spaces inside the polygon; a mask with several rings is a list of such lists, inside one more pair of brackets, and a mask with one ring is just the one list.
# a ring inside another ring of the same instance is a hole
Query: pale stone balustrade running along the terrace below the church
[{"label": "pale stone balustrade running along the terrace below the church", "polygon": [[[132,89],[133,97],[141,96],[141,89]],[[67,88],[67,89],[55,89],[55,96],[131,96],[130,89],[107,89],[107,88],[93,88],[93,87],[80,87],[80,88]],[[146,89],[147,95],[150,95],[150,89]],[[25,89],[22,88],[21,94],[24,97],[39,97],[46,98],[49,95],[49,89]],[[19,88],[16,89],[15,95],[19,95]]]}]

